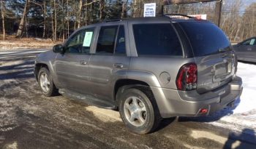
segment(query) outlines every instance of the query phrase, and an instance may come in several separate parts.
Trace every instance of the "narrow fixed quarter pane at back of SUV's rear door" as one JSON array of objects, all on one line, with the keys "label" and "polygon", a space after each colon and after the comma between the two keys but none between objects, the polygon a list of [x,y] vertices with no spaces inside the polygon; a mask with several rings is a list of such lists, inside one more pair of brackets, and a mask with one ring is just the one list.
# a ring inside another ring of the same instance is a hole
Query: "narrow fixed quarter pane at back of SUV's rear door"
[{"label": "narrow fixed quarter pane at back of SUV's rear door", "polygon": [[120,25],[119,29],[118,29],[115,54],[116,55],[125,55],[126,54],[125,38],[124,38],[124,25]]}]

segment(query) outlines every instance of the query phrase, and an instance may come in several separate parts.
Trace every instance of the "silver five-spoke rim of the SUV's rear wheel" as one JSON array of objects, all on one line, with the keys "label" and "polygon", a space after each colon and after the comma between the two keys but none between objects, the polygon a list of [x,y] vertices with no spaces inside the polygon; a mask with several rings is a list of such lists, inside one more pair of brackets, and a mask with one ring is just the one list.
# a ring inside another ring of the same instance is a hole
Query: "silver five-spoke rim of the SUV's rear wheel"
[{"label": "silver five-spoke rim of the SUV's rear wheel", "polygon": [[128,97],[124,102],[124,115],[130,124],[143,126],[147,118],[146,106],[138,97]]}]

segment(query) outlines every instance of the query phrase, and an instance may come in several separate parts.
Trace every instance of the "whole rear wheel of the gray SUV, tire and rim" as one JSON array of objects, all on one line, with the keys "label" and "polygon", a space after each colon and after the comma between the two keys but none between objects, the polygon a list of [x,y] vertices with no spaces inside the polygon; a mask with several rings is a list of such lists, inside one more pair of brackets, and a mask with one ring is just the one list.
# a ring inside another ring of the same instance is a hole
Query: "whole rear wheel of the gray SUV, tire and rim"
[{"label": "whole rear wheel of the gray SUV, tire and rim", "polygon": [[118,108],[124,124],[137,134],[153,132],[162,119],[154,97],[146,94],[148,91],[144,89],[127,89],[119,99]]}]

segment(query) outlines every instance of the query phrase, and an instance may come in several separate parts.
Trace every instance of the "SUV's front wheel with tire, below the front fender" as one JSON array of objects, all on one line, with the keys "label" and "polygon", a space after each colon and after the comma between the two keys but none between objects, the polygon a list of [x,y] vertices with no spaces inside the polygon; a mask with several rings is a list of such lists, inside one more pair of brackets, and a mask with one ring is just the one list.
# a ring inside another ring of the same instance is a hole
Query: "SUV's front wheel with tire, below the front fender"
[{"label": "SUV's front wheel with tire, below the front fender", "polygon": [[53,83],[53,78],[48,71],[48,68],[40,68],[38,73],[38,84],[42,94],[47,97],[58,94],[58,89]]}]

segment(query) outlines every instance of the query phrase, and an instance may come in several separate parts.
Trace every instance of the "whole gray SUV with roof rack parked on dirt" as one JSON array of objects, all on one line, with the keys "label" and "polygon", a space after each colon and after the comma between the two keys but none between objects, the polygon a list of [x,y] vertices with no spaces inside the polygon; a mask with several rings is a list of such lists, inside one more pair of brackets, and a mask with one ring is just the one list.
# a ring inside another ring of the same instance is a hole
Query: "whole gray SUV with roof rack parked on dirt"
[{"label": "whole gray SUV with roof rack parked on dirt", "polygon": [[162,118],[208,116],[242,92],[236,55],[225,33],[206,20],[170,17],[87,25],[37,56],[42,94],[63,94],[119,110],[138,134]]}]

